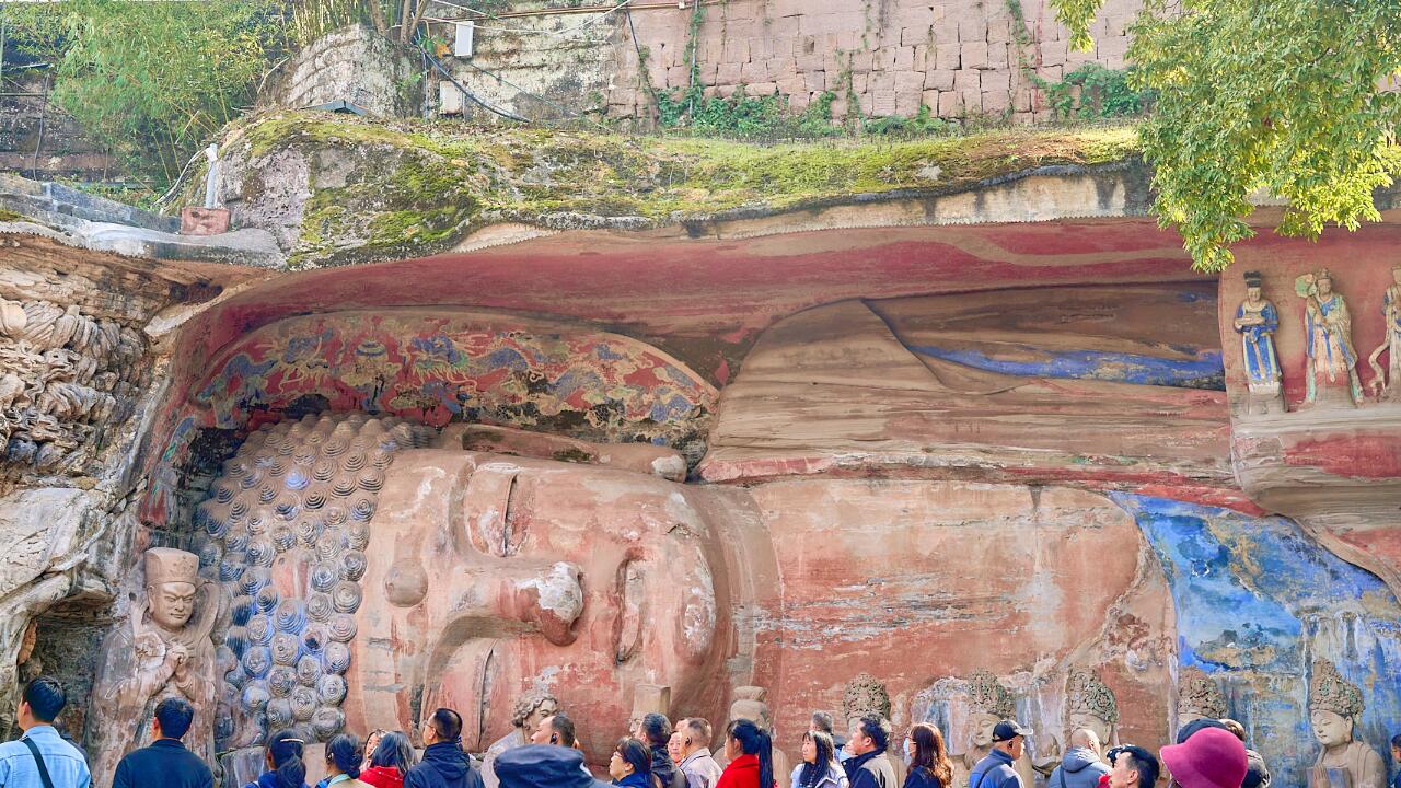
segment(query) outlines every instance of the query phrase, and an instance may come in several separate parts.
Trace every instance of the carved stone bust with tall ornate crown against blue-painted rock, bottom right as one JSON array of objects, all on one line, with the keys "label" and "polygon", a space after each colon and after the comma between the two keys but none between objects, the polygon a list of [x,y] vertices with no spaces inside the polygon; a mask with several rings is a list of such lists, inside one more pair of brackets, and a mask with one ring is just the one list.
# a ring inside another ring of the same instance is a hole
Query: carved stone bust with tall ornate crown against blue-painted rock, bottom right
[{"label": "carved stone bust with tall ornate crown against blue-painted rock, bottom right", "polygon": [[1387,767],[1381,754],[1352,738],[1362,716],[1362,691],[1320,659],[1309,680],[1309,722],[1323,745],[1309,771],[1309,788],[1386,788]]}]

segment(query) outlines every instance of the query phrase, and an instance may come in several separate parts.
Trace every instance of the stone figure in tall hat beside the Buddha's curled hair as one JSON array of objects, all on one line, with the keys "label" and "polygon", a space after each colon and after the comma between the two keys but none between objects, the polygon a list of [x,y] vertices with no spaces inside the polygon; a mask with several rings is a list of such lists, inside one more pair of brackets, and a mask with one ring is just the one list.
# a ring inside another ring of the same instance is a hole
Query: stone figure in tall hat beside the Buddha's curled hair
[{"label": "stone figure in tall hat beside the Buddha's curled hair", "polygon": [[210,630],[219,603],[212,583],[199,576],[199,557],[184,550],[146,551],[146,604],[102,642],[92,687],[92,775],[112,780],[127,752],[150,742],[151,714],[161,700],[184,697],[195,707],[185,743],[213,761],[216,709],[214,642]]}]

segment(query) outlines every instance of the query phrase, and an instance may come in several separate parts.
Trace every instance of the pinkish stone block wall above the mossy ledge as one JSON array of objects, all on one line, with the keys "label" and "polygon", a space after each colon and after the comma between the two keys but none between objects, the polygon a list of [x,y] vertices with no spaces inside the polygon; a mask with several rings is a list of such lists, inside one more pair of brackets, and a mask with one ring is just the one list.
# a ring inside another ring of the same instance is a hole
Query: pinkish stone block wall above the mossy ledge
[{"label": "pinkish stone block wall above the mossy ledge", "polygon": [[[551,6],[559,3],[537,10]],[[1107,0],[1094,48],[1075,52],[1048,0],[730,0],[706,4],[695,56],[709,95],[744,86],[750,95],[778,91],[801,111],[832,91],[835,118],[856,109],[855,98],[866,116],[911,116],[925,105],[941,118],[1048,121],[1051,107],[1027,72],[1058,81],[1087,62],[1124,67],[1126,27],[1140,6]],[[1014,7],[1030,36],[1024,43]],[[658,90],[689,84],[692,13],[686,1],[639,4],[630,18],[595,11],[490,20],[478,25],[471,62],[450,59],[450,69],[489,102],[530,118],[646,118],[654,109],[649,81]],[[451,27],[440,35],[451,39]]]}]

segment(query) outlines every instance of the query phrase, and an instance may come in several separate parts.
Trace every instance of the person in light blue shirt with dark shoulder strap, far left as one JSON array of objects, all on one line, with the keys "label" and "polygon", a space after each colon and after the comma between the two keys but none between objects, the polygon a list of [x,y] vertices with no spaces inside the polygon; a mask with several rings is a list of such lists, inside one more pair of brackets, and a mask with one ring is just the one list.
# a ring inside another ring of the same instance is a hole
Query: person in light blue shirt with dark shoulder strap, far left
[{"label": "person in light blue shirt with dark shoulder strap, far left", "polygon": [[53,728],[69,702],[63,687],[39,676],[25,684],[20,698],[17,722],[24,735],[0,745],[0,788],[88,788],[92,774],[87,760]]}]

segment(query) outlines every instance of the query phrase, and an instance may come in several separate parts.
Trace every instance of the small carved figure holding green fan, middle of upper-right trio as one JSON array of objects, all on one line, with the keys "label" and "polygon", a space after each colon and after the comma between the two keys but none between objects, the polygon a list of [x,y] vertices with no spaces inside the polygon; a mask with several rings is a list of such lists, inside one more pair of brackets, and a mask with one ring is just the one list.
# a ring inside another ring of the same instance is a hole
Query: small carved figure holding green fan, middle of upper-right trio
[{"label": "small carved figure holding green fan, middle of upper-right trio", "polygon": [[1318,387],[1348,387],[1353,405],[1362,401],[1358,352],[1352,346],[1348,301],[1332,289],[1332,273],[1323,268],[1295,280],[1304,301],[1304,351],[1309,356],[1309,402],[1318,401]]}]

